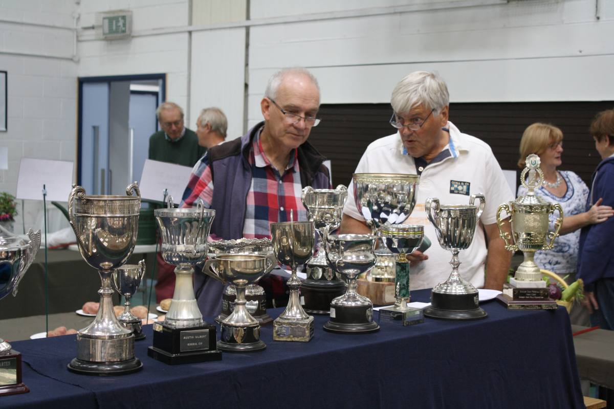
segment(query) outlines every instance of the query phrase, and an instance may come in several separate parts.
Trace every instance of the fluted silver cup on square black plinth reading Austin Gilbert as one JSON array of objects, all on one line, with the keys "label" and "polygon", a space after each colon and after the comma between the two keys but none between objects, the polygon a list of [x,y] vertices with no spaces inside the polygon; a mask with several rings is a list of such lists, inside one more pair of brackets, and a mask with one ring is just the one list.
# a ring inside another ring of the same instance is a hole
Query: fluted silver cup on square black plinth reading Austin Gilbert
[{"label": "fluted silver cup on square black plinth reading Austin Gilbert", "polygon": [[175,267],[175,289],[165,320],[153,323],[153,345],[147,355],[166,364],[219,361],[216,326],[203,321],[194,296],[194,266],[207,256],[209,230],[215,210],[203,207],[175,208],[173,197],[167,208],[153,215],[160,227],[162,258]]}]

